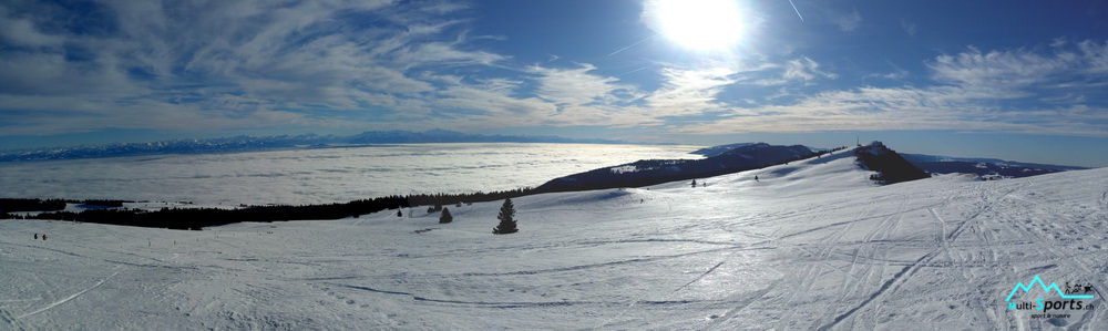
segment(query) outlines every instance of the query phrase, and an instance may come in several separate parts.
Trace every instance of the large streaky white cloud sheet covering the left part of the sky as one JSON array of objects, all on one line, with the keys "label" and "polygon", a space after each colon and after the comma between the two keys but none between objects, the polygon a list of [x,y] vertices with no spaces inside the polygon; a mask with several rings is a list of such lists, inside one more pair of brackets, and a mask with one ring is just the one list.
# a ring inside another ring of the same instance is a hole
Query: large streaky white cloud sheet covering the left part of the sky
[{"label": "large streaky white cloud sheet covering the left part of the sky", "polygon": [[[430,104],[421,99],[443,82],[428,79],[421,68],[489,66],[506,59],[466,49],[465,32],[458,28],[464,21],[434,17],[464,9],[449,3],[99,4],[105,21],[85,23],[113,27],[111,34],[48,33],[34,22],[78,13],[45,3],[0,4],[0,42],[40,48],[0,49],[0,114],[20,114],[6,116],[0,132],[288,126],[329,121],[311,120],[310,110],[367,106],[427,114]],[[12,17],[16,11],[21,17]],[[359,19],[396,24],[340,22]],[[73,50],[85,51],[88,60],[68,60],[65,52]],[[53,97],[39,97],[43,94]]]}]

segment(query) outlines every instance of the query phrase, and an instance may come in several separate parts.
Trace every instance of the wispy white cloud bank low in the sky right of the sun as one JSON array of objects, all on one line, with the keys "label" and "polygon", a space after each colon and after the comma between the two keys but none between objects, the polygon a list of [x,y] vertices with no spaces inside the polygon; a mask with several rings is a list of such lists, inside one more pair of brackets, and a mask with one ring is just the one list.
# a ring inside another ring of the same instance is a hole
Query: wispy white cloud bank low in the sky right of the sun
[{"label": "wispy white cloud bank low in the sky right of the sun", "polygon": [[[1085,95],[1073,92],[1105,95],[1104,54],[1108,43],[1089,41],[1078,43],[1077,51],[1053,54],[971,48],[927,62],[940,84],[827,91],[792,104],[736,107],[730,118],[673,132],[965,130],[1105,137],[1108,107],[1083,104]],[[1063,84],[1067,87],[1055,89]]]}]

